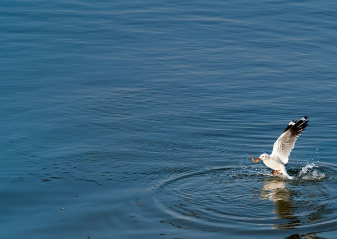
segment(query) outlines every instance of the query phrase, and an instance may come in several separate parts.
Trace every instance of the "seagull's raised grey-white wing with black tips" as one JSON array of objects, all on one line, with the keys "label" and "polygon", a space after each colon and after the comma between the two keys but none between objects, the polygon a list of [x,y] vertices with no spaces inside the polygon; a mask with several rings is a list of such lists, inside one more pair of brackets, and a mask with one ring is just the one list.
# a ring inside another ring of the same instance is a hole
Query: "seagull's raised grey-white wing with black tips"
[{"label": "seagull's raised grey-white wing with black tips", "polygon": [[304,116],[299,121],[292,120],[276,140],[271,157],[278,157],[283,164],[288,163],[288,156],[294,148],[297,138],[308,125],[308,117]]}]

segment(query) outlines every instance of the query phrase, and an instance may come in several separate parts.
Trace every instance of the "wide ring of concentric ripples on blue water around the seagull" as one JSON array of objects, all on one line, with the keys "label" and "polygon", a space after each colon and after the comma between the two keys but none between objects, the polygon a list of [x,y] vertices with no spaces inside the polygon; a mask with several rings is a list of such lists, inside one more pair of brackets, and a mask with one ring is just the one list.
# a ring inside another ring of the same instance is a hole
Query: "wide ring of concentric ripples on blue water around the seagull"
[{"label": "wide ring of concentric ripples on blue water around the seagull", "polygon": [[229,235],[237,235],[238,228],[244,229],[243,235],[279,229],[307,233],[308,227],[310,232],[334,230],[336,166],[314,165],[290,169],[294,180],[235,166],[180,174],[155,190],[167,215],[161,222]]}]

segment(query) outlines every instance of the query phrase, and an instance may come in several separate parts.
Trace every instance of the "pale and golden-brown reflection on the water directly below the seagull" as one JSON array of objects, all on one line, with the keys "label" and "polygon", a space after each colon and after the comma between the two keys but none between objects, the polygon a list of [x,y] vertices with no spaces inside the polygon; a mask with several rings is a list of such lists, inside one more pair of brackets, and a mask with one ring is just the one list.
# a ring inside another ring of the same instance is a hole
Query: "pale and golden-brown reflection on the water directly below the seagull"
[{"label": "pale and golden-brown reflection on the water directly below the seagull", "polygon": [[260,191],[262,200],[271,200],[274,203],[274,214],[280,219],[290,219],[289,223],[275,224],[275,228],[290,229],[294,228],[299,221],[293,215],[294,205],[291,201],[291,191],[286,188],[285,182],[277,181],[271,178],[264,182],[263,188]]}]

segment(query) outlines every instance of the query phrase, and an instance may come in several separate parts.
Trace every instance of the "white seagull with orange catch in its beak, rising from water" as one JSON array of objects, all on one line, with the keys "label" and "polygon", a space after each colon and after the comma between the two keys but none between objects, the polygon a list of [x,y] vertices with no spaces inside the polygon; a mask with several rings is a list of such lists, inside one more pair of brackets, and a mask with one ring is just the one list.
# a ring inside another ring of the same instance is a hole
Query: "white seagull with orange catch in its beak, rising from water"
[{"label": "white seagull with orange catch in its beak, rising from water", "polygon": [[288,156],[294,148],[296,140],[308,125],[309,120],[306,120],[307,118],[308,117],[304,116],[299,121],[290,121],[282,135],[274,143],[272,154],[262,153],[256,160],[250,155],[253,162],[257,163],[262,160],[267,167],[275,170],[274,175],[277,172],[281,172],[288,179],[293,179],[294,177],[287,174],[284,165],[288,163]]}]

